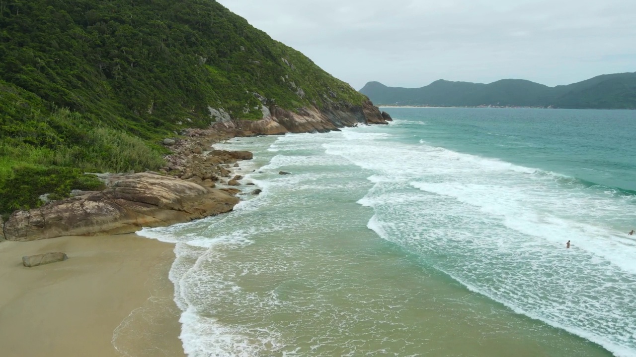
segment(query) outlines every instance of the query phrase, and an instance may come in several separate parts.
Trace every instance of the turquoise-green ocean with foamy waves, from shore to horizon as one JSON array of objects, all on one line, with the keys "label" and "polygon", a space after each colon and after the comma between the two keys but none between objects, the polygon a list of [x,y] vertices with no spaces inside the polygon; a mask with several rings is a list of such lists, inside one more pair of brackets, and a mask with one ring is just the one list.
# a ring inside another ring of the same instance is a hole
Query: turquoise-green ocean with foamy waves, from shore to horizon
[{"label": "turquoise-green ocean with foamy waves, from shore to horizon", "polygon": [[190,357],[636,356],[636,111],[385,110],[215,145],[244,201],[139,233]]}]

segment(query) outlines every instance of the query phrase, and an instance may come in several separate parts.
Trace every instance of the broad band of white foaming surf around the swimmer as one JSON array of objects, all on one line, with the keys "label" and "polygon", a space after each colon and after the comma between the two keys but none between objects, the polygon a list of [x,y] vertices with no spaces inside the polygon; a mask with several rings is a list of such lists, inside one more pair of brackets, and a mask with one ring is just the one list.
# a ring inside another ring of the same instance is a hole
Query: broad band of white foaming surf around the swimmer
[{"label": "broad band of white foaming surf around the swimmer", "polygon": [[[603,223],[616,217],[633,222],[634,211],[626,206],[633,198],[607,196],[558,173],[429,145],[382,145],[363,135],[350,140],[357,145],[329,144],[326,152],[375,172],[369,178],[375,186],[358,203],[374,208],[368,227],[379,236],[519,313],[617,356],[635,355],[636,309],[628,301],[636,293],[628,286],[636,286],[636,245],[616,229],[620,224]],[[574,245],[565,251],[568,239]],[[504,278],[475,273],[488,270]],[[543,286],[523,274],[533,271],[546,280]],[[560,300],[543,296],[546,289]]]}]

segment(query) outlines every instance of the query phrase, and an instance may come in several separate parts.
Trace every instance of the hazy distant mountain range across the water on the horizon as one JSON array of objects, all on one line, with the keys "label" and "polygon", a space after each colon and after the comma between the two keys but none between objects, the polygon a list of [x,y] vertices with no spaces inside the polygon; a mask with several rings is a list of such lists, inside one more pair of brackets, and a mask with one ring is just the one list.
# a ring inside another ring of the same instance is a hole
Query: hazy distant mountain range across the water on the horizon
[{"label": "hazy distant mountain range across the water on the horizon", "polygon": [[636,72],[604,74],[556,87],[523,79],[502,79],[490,84],[440,79],[422,88],[394,88],[369,82],[360,92],[376,105],[636,109]]}]

